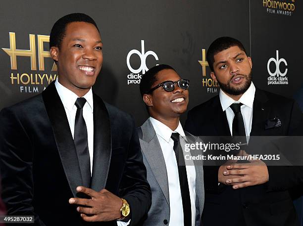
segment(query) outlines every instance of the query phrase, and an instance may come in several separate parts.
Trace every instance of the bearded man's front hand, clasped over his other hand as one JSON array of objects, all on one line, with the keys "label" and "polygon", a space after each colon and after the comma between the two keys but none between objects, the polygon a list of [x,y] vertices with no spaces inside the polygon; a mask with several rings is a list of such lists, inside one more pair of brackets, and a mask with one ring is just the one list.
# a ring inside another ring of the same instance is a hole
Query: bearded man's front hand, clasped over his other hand
[{"label": "bearded man's front hand, clasped over his other hand", "polygon": [[269,180],[267,166],[261,160],[243,164],[235,163],[226,168],[223,175],[236,177],[225,180],[225,184],[233,185],[233,189],[262,184]]}]

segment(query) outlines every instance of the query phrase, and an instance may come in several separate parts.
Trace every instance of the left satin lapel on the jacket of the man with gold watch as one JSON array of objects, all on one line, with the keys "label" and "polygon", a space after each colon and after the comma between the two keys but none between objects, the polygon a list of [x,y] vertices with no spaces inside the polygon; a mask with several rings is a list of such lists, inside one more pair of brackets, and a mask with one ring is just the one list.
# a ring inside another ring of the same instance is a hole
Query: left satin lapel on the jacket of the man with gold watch
[{"label": "left satin lapel on the jacket of the man with gold watch", "polygon": [[74,140],[70,132],[64,106],[57,93],[54,82],[42,92],[42,96],[50,118],[50,124],[67,181],[74,197],[76,197],[76,187],[83,185],[83,181]]}]

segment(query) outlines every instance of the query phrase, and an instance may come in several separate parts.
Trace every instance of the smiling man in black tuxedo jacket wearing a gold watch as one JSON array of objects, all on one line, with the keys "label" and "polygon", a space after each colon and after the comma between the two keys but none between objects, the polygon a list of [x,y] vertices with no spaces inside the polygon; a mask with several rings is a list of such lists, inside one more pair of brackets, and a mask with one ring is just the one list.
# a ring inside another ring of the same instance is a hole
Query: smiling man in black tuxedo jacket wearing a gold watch
[{"label": "smiling man in black tuxedo jacket wearing a gold watch", "polygon": [[132,116],[92,92],[103,61],[95,21],[60,18],[50,54],[59,79],[0,113],[8,215],[33,215],[39,226],[137,225],[150,186]]}]

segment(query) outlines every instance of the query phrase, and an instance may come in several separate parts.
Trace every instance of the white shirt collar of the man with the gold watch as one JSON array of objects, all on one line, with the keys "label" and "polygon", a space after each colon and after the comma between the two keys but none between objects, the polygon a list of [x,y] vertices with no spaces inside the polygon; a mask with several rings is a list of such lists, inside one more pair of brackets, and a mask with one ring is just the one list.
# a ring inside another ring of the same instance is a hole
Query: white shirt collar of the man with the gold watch
[{"label": "white shirt collar of the man with the gold watch", "polygon": [[[63,106],[66,107],[69,111],[72,111],[73,108],[76,107],[75,102],[78,98],[78,95],[73,91],[67,89],[66,87],[62,86],[58,80],[55,81],[55,87],[63,103]],[[90,107],[93,113],[94,105],[92,88],[83,97],[86,99],[88,106]]]}]

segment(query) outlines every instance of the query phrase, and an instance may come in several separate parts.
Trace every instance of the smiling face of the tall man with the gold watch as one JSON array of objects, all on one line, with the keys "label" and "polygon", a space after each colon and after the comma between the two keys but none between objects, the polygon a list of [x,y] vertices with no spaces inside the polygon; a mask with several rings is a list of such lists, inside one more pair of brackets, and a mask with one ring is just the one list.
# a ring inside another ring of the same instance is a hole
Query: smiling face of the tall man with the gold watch
[{"label": "smiling face of the tall man with the gold watch", "polygon": [[95,84],[103,62],[101,37],[95,25],[69,23],[60,48],[51,47],[50,54],[57,62],[62,86],[83,96]]}]

